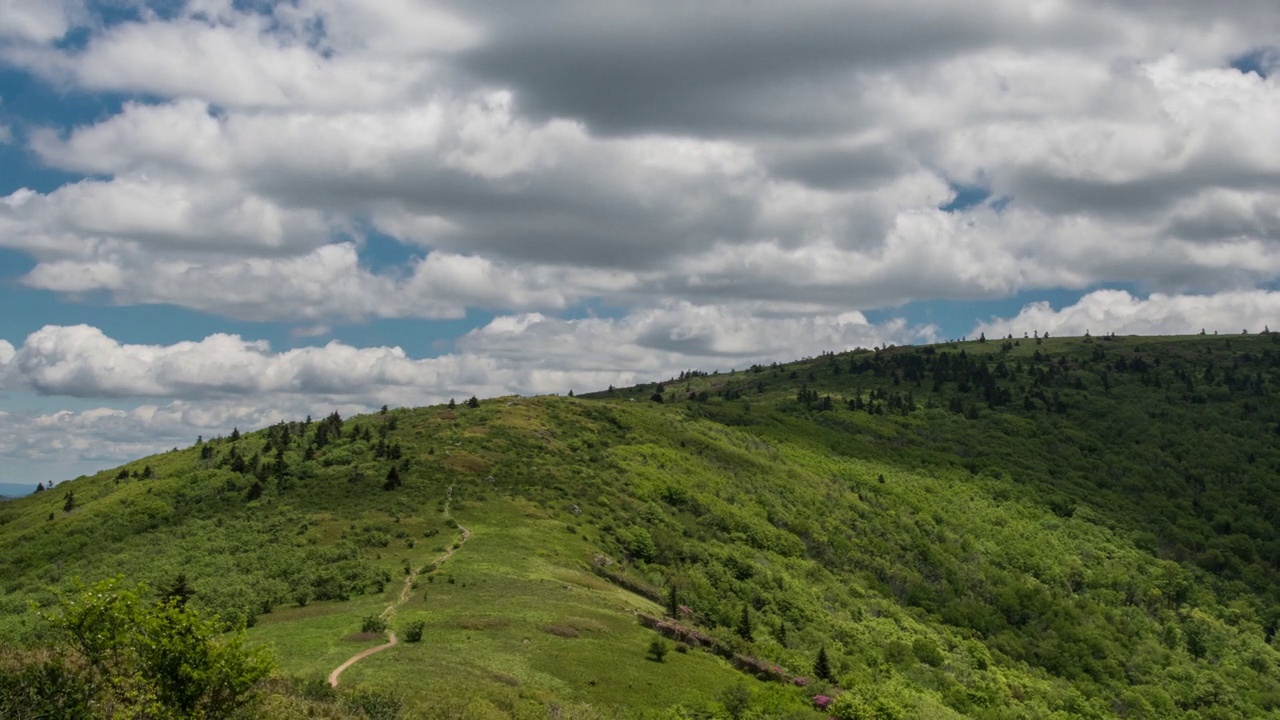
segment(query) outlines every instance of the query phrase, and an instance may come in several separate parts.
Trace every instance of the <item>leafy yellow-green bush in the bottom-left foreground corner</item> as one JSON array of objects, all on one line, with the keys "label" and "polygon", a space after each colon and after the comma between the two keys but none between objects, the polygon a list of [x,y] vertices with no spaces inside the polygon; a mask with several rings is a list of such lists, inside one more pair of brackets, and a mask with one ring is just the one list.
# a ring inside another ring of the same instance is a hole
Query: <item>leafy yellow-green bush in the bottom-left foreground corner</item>
[{"label": "leafy yellow-green bush in the bottom-left foreground corner", "polygon": [[0,717],[218,719],[246,710],[273,662],[175,600],[118,579],[42,611],[51,642],[0,660]]}]

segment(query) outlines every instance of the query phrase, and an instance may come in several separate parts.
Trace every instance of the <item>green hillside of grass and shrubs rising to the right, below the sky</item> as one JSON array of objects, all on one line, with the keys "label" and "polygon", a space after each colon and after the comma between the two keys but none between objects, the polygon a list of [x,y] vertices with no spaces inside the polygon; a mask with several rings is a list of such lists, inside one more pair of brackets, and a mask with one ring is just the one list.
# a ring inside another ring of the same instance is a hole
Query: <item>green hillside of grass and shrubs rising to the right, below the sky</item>
[{"label": "green hillside of grass and shrubs rising to the right, below the sky", "polygon": [[[855,351],[283,423],[5,502],[0,644],[50,642],[28,602],[74,579],[184,575],[273,648],[260,716],[1280,717],[1277,514],[1277,334]],[[421,642],[328,691],[411,574]]]}]

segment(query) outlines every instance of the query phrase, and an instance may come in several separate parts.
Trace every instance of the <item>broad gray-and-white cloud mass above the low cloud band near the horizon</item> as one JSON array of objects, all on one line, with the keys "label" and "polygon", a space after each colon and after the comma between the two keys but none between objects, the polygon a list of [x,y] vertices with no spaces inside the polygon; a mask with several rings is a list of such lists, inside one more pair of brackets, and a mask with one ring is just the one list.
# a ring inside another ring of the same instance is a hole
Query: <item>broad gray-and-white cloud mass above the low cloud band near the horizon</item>
[{"label": "broad gray-and-white cloud mass above the low cloud band near the horizon", "polygon": [[15,131],[95,178],[0,199],[37,288],[325,323],[1280,273],[1280,81],[1228,67],[1276,63],[1268,1],[14,8],[0,61],[148,97]]}]

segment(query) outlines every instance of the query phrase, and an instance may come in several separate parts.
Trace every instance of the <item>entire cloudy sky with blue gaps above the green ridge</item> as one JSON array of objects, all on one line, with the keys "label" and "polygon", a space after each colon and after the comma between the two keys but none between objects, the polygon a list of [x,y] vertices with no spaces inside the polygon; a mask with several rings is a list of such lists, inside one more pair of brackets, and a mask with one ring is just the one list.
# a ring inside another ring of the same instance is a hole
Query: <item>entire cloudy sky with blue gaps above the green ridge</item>
[{"label": "entire cloudy sky with blue gaps above the green ridge", "polygon": [[0,0],[0,483],[823,351],[1280,329],[1275,0]]}]

